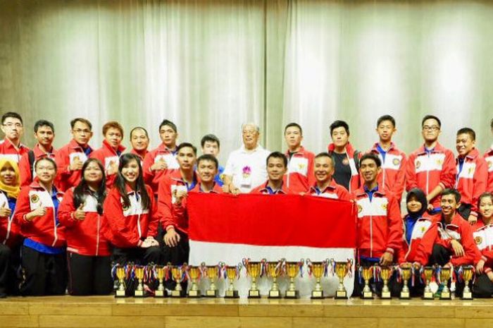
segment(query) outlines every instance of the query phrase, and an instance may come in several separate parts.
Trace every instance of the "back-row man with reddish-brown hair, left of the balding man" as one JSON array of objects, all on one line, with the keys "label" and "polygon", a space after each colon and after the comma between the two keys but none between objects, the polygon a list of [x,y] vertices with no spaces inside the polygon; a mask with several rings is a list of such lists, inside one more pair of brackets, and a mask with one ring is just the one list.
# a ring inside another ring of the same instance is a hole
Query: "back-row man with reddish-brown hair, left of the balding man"
[{"label": "back-row man with reddish-brown hair, left of the balding man", "polygon": [[109,121],[103,126],[103,135],[103,145],[98,150],[94,150],[89,158],[99,159],[99,162],[103,164],[106,187],[111,188],[118,173],[118,161],[125,151],[122,145],[123,127],[116,121]]}]

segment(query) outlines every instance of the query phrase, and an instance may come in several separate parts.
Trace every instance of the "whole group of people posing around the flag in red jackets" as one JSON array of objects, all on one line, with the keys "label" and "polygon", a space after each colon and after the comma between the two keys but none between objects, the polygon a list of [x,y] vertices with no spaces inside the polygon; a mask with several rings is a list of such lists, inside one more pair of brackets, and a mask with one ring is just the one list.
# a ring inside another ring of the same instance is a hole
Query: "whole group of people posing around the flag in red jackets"
[{"label": "whole group of people posing around the flag in red jackets", "polygon": [[[327,151],[313,154],[301,145],[297,123],[285,127],[285,153],[261,147],[258,126],[246,123],[243,145],[223,167],[216,135],[202,138],[198,157],[191,143],[177,144],[177,126],[168,120],[159,126],[161,145],[150,151],[146,129],[132,128],[130,152],[116,121],[104,124],[97,150],[89,146],[87,119],[70,122],[73,139],[59,150],[53,123],[35,123],[32,150],[20,142],[23,127],[19,114],[1,116],[0,296],[67,289],[104,295],[113,289],[112,263],[187,262],[190,192],[354,202],[358,264],[397,263],[415,272],[426,265],[473,265],[475,296],[492,296],[493,147],[481,155],[470,128],[458,130],[454,156],[438,142],[440,120],[425,116],[423,145],[406,156],[392,142],[392,116],[377,120],[379,140],[368,152],[354,149],[348,124],[335,121]],[[360,287],[356,279],[356,295]],[[423,287],[416,283],[412,292]]]}]

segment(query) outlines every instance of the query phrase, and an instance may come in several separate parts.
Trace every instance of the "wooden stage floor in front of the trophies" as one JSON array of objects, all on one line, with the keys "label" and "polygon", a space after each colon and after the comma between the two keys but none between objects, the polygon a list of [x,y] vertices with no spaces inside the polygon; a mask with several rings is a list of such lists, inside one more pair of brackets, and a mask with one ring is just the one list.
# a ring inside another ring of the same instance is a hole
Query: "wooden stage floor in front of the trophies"
[{"label": "wooden stage floor in front of the trophies", "polygon": [[489,300],[225,300],[40,297],[0,300],[0,327],[493,327]]}]

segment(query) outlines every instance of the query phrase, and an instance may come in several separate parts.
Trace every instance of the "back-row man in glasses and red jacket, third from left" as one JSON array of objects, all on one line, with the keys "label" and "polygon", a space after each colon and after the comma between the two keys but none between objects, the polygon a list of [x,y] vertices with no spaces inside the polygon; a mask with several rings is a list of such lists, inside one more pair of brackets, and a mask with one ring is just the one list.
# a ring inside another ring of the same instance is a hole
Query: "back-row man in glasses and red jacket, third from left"
[{"label": "back-row man in glasses and red jacket, third from left", "polygon": [[92,124],[87,119],[78,117],[70,121],[73,139],[61,147],[56,154],[58,181],[61,191],[75,187],[80,182],[82,165],[92,152],[89,140],[92,138]]}]

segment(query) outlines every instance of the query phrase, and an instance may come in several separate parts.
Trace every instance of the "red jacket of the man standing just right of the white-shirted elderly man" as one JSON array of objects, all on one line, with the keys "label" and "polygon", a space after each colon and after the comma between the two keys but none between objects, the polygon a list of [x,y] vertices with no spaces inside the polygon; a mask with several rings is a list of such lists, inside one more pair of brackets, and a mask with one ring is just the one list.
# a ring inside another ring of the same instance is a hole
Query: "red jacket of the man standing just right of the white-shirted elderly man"
[{"label": "red jacket of the man standing just right of the white-shirted elderly man", "polygon": [[286,152],[288,159],[287,174],[285,183],[287,188],[293,193],[304,193],[315,182],[313,176],[313,159],[315,154],[308,152],[303,146],[298,152],[294,152],[289,158],[289,152]]}]

